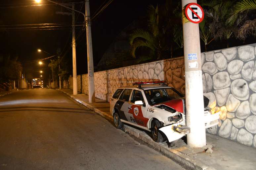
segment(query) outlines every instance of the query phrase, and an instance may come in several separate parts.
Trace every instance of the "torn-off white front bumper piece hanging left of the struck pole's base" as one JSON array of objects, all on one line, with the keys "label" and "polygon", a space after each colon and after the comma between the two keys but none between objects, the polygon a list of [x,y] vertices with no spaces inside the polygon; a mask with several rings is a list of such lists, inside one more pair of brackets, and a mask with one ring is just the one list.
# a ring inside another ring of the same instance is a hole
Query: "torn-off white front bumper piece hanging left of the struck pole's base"
[{"label": "torn-off white front bumper piece hanging left of the struck pole's base", "polygon": [[180,123],[161,127],[159,130],[165,134],[169,142],[178,140],[186,134],[190,133],[190,127],[181,125]]}]

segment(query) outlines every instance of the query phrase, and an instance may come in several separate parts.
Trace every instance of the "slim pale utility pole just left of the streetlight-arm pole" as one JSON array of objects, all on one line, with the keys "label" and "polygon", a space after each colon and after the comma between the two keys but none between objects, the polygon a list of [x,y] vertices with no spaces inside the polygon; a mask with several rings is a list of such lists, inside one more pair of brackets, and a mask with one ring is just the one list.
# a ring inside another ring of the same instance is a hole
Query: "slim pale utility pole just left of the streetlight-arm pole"
[{"label": "slim pale utility pole just left of the streetlight-arm pole", "polygon": [[[72,9],[75,5],[72,4]],[[76,81],[76,50],[75,50],[75,12],[72,11],[72,54],[73,54],[73,95],[77,95],[77,81]]]}]

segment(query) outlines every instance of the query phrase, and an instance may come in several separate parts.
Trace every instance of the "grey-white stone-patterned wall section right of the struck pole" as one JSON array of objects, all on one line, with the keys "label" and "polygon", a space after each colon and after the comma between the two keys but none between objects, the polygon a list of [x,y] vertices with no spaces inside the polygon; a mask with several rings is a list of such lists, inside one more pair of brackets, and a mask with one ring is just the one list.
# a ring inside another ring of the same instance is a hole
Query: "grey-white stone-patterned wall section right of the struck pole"
[{"label": "grey-white stone-patterned wall section right of the struck pole", "polygon": [[256,147],[256,44],[205,52],[203,92],[221,110],[209,133]]}]

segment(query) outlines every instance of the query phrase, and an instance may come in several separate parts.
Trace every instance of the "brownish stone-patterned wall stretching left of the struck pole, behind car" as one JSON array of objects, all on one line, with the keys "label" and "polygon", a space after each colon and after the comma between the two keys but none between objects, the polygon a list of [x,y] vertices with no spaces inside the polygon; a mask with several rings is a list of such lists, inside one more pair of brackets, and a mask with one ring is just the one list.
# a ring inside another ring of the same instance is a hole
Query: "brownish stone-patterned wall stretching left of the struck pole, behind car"
[{"label": "brownish stone-patterned wall stretching left of the struck pole, behind car", "polygon": [[[136,81],[166,80],[168,86],[185,94],[183,57],[161,60],[94,73],[95,97],[108,100],[118,87],[132,85]],[[82,76],[82,80],[81,80]],[[77,75],[77,92],[88,95],[88,74]],[[73,89],[72,77],[69,88]]]}]

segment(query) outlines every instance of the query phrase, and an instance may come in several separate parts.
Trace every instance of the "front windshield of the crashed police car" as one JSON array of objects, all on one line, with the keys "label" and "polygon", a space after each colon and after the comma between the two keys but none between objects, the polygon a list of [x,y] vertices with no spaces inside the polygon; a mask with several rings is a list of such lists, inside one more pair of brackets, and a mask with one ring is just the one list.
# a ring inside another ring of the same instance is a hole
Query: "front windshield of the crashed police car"
[{"label": "front windshield of the crashed police car", "polygon": [[172,99],[184,97],[173,88],[150,89],[145,90],[145,95],[149,105],[155,105]]}]

